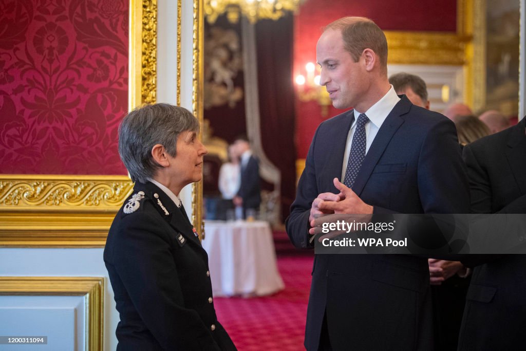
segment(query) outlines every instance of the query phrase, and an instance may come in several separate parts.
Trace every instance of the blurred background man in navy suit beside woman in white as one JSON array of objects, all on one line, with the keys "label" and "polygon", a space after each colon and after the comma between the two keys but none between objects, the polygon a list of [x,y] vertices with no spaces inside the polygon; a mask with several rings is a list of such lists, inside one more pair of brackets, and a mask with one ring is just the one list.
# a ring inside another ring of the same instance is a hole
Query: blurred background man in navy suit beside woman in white
[{"label": "blurred background man in navy suit beside woman in white", "polygon": [[243,216],[245,217],[247,210],[258,211],[261,204],[259,161],[252,155],[250,143],[246,136],[237,137],[234,141],[234,147],[239,155],[241,165],[241,184],[233,202],[234,205],[243,208]]}]

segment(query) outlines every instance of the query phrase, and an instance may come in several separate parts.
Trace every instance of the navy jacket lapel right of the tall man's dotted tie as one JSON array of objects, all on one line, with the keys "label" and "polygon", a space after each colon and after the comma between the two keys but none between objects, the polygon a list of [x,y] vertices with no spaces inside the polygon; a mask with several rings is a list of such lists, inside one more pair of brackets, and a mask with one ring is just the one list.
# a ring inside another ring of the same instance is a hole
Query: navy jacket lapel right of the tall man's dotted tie
[{"label": "navy jacket lapel right of the tall man's dotted tie", "polygon": [[355,185],[352,190],[358,195],[361,195],[363,187],[367,184],[372,170],[380,160],[387,145],[395,135],[398,128],[403,124],[404,120],[400,115],[406,114],[411,107],[411,103],[407,98],[402,98],[395,107],[391,110],[386,120],[383,121],[382,126],[376,134],[375,140],[372,142],[367,155],[363,159],[363,163],[356,177]]}]

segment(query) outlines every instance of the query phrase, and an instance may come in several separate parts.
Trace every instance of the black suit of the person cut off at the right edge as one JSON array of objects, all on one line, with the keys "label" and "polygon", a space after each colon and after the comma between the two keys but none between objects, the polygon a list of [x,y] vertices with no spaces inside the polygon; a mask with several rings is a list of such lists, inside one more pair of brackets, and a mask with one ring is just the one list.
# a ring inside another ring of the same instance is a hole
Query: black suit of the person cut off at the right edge
[{"label": "black suit of the person cut off at the right edge", "polygon": [[[513,127],[464,147],[473,213],[526,214],[525,131],[523,118]],[[479,264],[488,263],[473,269],[459,350],[523,349],[526,256],[482,255],[477,259]]]}]

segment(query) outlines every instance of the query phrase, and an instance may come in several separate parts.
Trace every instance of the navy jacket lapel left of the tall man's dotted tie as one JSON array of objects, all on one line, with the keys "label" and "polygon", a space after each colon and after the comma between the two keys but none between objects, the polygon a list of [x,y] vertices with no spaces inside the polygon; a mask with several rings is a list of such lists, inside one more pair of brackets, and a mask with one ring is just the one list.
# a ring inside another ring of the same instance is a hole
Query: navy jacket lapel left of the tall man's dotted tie
[{"label": "navy jacket lapel left of the tall man's dotted tie", "polygon": [[[343,156],[345,155],[345,147],[347,145],[347,136],[349,135],[349,129],[351,128],[352,122],[355,120],[354,110],[351,109],[345,114],[345,125],[341,128],[335,129],[334,133],[331,134],[332,149],[327,152],[327,162],[321,174],[323,178],[320,179],[319,184],[328,184],[330,190],[323,189],[322,192],[331,191],[335,192],[336,188],[332,185],[332,179],[338,178],[341,180],[341,168],[343,162]],[[341,147],[343,145],[343,147]],[[335,152],[336,151],[336,152]]]}]

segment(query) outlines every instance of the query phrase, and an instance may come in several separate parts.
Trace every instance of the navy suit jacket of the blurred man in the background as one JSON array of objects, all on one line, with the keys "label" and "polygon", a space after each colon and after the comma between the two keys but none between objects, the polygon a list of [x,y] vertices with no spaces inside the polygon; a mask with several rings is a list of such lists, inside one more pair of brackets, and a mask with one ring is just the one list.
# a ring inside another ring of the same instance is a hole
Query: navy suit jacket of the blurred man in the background
[{"label": "navy suit jacket of the blurred man in the background", "polygon": [[245,166],[241,166],[241,184],[237,196],[243,199],[243,208],[259,210],[261,204],[261,184],[259,179],[259,162],[252,155]]}]

